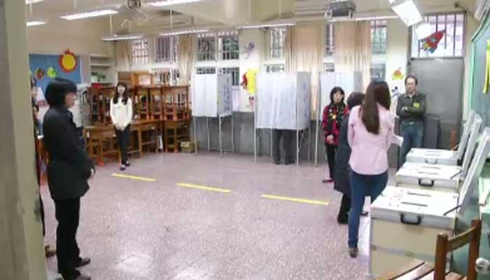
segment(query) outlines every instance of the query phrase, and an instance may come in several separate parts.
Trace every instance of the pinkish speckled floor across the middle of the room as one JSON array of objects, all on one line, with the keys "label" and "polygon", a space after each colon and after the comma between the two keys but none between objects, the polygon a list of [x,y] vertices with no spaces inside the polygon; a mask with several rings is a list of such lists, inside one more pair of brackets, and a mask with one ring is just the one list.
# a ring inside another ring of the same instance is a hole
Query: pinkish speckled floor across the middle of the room
[{"label": "pinkish speckled floor across the middle of the room", "polygon": [[[321,183],[324,167],[254,163],[248,155],[146,155],[116,178],[97,169],[83,198],[78,243],[97,280],[367,279],[369,218],[361,219],[360,256],[346,252],[337,225],[340,194]],[[177,183],[231,193],[182,188]],[[328,206],[267,200],[280,195]],[[47,240],[55,244],[54,204],[43,188]],[[56,259],[48,260],[56,269]]]}]

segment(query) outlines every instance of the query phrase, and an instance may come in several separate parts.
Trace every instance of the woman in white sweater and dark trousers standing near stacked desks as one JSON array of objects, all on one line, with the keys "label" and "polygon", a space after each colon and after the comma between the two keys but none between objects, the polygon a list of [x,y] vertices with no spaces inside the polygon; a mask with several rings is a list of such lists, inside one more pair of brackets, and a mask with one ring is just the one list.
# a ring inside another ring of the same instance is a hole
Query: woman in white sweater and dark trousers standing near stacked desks
[{"label": "woman in white sweater and dark trousers standing near stacked desks", "polygon": [[127,146],[130,144],[130,123],[132,118],[133,104],[127,91],[127,85],[118,83],[116,94],[111,102],[111,119],[116,128],[116,137],[118,138],[119,151],[121,153],[121,171],[130,166],[130,162],[127,160]]}]

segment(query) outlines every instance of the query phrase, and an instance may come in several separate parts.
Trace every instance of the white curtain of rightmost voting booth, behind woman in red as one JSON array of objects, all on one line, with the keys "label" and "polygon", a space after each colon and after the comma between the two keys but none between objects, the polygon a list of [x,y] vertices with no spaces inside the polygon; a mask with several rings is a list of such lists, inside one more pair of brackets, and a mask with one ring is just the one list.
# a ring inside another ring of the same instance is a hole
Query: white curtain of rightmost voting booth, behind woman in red
[{"label": "white curtain of rightmost voting booth, behind woman in red", "polygon": [[[359,72],[339,73],[339,72],[323,72],[320,73],[320,95],[321,105],[320,110],[330,104],[330,91],[334,87],[342,87],[345,92],[344,101],[352,92],[364,92],[362,85],[362,75]],[[320,116],[321,117],[321,116]]]}]

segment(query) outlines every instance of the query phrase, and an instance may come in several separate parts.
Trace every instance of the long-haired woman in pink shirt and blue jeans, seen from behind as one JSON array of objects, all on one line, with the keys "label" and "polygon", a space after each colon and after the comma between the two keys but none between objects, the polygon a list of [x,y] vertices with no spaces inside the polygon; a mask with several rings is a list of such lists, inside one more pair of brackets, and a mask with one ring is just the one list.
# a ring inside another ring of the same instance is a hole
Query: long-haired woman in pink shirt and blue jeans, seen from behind
[{"label": "long-haired woman in pink shirt and blue jeans, seen from behind", "polygon": [[351,210],[349,212],[349,255],[358,254],[359,218],[364,197],[377,199],[388,182],[388,149],[393,139],[394,118],[390,113],[388,84],[374,80],[366,90],[364,103],[352,109],[348,137],[351,146]]}]

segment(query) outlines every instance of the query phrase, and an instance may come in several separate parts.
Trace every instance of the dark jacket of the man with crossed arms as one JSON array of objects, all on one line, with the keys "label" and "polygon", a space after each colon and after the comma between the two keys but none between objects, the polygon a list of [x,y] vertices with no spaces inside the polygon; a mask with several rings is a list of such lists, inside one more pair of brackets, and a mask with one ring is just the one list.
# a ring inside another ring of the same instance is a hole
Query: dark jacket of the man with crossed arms
[{"label": "dark jacket of the man with crossed arms", "polygon": [[[402,108],[407,107],[407,111]],[[416,92],[414,97],[409,97],[408,94],[402,94],[398,97],[396,105],[396,114],[400,117],[400,122],[421,122],[423,123],[423,115],[426,113],[427,99],[426,94]]]}]

